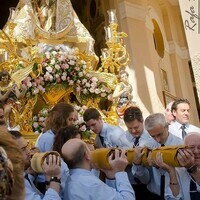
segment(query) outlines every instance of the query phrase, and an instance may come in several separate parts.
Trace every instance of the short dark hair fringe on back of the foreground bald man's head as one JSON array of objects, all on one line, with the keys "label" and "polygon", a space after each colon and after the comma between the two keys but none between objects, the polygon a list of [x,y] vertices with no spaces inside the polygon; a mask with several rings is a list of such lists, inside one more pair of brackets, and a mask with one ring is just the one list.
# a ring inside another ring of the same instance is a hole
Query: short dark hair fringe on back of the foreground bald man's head
[{"label": "short dark hair fringe on back of the foreground bald man's head", "polygon": [[70,158],[64,158],[64,161],[66,162],[69,169],[74,169],[83,162],[85,151],[85,144],[81,143],[77,151],[73,152],[73,155]]}]

